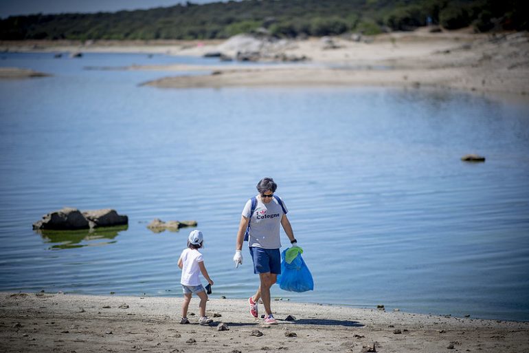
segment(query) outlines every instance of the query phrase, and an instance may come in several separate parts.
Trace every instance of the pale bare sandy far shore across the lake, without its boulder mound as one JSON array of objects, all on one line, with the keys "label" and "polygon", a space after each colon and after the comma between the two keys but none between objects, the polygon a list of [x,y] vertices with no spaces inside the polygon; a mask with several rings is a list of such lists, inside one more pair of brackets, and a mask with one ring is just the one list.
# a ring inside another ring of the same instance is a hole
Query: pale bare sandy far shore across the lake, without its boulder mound
[{"label": "pale bare sandy far shore across the lake, without its boulder mound", "polygon": [[[353,41],[332,38],[289,42],[281,54],[306,57],[302,65],[201,67],[202,76],[169,76],[144,83],[156,87],[234,86],[396,86],[443,87],[475,92],[529,94],[529,34],[473,34],[468,31],[431,33],[427,28],[394,32]],[[223,41],[71,41],[0,42],[4,51],[139,52],[203,56]],[[233,54],[233,53],[231,53]],[[120,69],[187,72],[192,65],[151,65]]]}]

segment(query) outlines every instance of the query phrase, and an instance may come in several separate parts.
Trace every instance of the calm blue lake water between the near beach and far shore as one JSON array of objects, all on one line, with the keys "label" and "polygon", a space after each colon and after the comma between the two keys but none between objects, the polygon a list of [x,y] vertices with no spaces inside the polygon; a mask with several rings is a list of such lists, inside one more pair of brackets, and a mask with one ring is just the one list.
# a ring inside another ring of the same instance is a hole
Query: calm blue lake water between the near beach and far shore
[{"label": "calm blue lake water between the near beach and far shore", "polygon": [[[144,54],[1,54],[47,78],[0,81],[0,290],[181,295],[177,259],[196,220],[212,297],[258,278],[240,213],[278,182],[313,292],[273,297],[529,320],[529,104],[434,89],[159,89],[178,72],[90,66],[194,63]],[[227,64],[229,65],[229,64]],[[486,162],[460,157],[480,153]],[[41,235],[64,206],[115,208],[126,229]],[[282,233],[283,244],[288,244]],[[177,308],[175,308],[175,312]]]}]

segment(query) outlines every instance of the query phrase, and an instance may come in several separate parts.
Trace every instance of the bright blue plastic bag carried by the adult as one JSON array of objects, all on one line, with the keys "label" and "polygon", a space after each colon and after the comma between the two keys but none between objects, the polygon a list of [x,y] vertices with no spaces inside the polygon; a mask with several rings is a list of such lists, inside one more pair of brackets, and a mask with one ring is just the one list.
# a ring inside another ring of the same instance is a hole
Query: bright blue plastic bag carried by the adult
[{"label": "bright blue plastic bag carried by the adult", "polygon": [[311,271],[301,257],[301,253],[289,264],[286,262],[286,250],[281,253],[281,275],[278,276],[279,288],[288,290],[289,292],[306,292],[307,290],[314,290],[314,281]]}]

